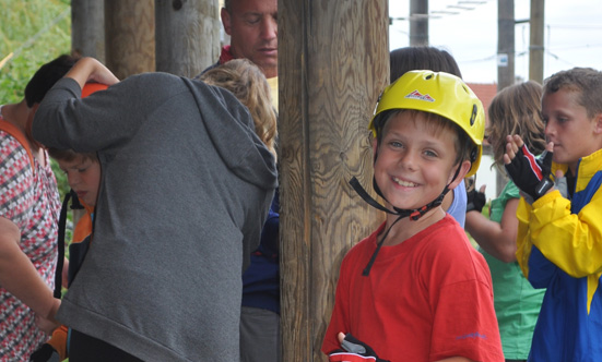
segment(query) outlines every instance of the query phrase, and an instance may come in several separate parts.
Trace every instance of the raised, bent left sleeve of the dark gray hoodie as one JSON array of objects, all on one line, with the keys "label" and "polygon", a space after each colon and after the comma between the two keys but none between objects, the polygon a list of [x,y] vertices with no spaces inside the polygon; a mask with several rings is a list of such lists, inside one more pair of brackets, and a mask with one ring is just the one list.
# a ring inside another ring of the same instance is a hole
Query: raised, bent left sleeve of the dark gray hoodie
[{"label": "raised, bent left sleeve of the dark gray hoodie", "polygon": [[48,147],[110,152],[128,142],[156,108],[184,92],[175,75],[143,73],[81,99],[79,84],[63,77],[44,97],[33,135]]}]

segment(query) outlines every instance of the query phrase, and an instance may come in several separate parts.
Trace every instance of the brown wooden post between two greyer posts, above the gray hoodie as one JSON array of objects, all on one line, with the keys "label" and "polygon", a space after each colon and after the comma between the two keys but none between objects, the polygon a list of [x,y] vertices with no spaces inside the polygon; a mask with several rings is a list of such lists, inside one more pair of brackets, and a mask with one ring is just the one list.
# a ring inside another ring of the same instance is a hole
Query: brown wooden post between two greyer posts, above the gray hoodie
[{"label": "brown wooden post between two greyer posts, above the gray hoodie", "polygon": [[153,0],[105,0],[106,65],[122,80],[155,71]]}]

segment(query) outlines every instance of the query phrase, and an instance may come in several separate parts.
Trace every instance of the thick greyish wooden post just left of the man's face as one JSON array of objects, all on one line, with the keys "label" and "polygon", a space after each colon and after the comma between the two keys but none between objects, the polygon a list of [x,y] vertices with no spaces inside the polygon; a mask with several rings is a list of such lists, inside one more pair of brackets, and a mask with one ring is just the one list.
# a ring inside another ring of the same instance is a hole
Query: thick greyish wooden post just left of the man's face
[{"label": "thick greyish wooden post just left of the man's face", "polygon": [[220,57],[217,0],[155,0],[156,70],[192,77]]}]

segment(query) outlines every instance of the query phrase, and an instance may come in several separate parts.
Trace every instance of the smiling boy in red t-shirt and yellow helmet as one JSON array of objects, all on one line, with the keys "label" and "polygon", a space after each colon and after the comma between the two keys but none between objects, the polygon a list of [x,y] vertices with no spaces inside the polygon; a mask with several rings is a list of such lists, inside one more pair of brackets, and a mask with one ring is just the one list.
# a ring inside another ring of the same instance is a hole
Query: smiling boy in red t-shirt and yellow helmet
[{"label": "smiling boy in red t-shirt and yellow helmet", "polygon": [[481,101],[455,75],[412,71],[385,89],[369,128],[386,207],[369,202],[388,216],[343,260],[322,351],[330,361],[504,361],[487,264],[440,206],[479,168]]}]

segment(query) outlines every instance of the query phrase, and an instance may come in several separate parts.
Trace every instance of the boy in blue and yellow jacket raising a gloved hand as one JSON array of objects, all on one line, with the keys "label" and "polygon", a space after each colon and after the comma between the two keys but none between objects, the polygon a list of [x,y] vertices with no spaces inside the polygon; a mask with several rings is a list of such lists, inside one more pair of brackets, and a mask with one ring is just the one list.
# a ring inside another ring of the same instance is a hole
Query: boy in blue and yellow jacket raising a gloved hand
[{"label": "boy in blue and yellow jacket raising a gloved hand", "polygon": [[575,68],[552,75],[542,114],[547,154],[535,160],[515,135],[505,155],[523,192],[517,258],[533,287],[547,288],[529,361],[600,361],[602,72]]}]

